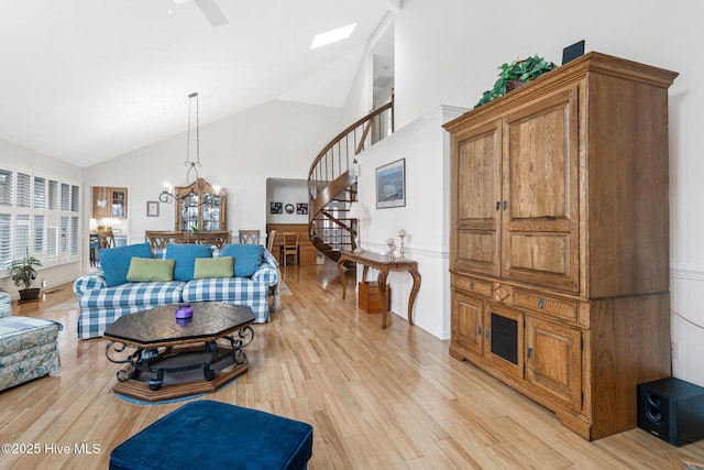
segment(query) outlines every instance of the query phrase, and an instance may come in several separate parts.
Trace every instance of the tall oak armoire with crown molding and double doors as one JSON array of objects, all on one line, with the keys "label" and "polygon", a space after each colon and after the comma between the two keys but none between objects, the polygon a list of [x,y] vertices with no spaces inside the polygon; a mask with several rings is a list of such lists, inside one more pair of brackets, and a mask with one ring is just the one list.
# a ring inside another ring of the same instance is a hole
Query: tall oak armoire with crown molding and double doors
[{"label": "tall oak armoire with crown molding and double doors", "polygon": [[671,374],[668,88],[588,53],[448,122],[450,354],[585,439]]}]

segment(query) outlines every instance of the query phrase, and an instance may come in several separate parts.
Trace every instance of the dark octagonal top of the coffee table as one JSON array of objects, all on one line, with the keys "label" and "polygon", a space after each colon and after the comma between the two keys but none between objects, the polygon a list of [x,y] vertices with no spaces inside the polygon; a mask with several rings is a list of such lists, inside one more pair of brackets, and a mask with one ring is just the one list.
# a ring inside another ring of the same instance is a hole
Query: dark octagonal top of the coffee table
[{"label": "dark octagonal top of the coffee table", "polygon": [[193,318],[177,319],[179,305],[165,305],[118,318],[106,329],[110,339],[145,347],[168,342],[205,341],[221,338],[254,321],[252,308],[220,302],[188,304]]}]

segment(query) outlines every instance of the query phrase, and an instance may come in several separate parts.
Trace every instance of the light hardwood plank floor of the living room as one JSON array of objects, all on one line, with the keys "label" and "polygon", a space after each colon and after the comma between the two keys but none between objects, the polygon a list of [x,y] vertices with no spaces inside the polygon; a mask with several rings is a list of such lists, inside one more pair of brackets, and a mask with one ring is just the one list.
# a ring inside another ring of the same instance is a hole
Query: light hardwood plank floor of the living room
[{"label": "light hardwood plank floor of the living room", "polygon": [[[310,423],[311,470],[684,469],[683,461],[704,461],[704,441],[678,448],[640,429],[583,440],[543,407],[450,358],[448,341],[395,315],[382,330],[380,315],[358,310],[354,295],[341,299],[333,263],[287,266],[283,277],[293,296],[270,324],[254,326],[249,372],[196,400]],[[0,392],[0,442],[40,450],[0,453],[0,468],[105,469],[116,446],[185,402],[144,406],[117,397],[107,341],[76,339],[77,310],[47,311],[73,297],[70,284],[46,291],[14,311],[64,324],[62,368]],[[213,431],[232,433],[233,446],[246,442],[237,424]]]}]

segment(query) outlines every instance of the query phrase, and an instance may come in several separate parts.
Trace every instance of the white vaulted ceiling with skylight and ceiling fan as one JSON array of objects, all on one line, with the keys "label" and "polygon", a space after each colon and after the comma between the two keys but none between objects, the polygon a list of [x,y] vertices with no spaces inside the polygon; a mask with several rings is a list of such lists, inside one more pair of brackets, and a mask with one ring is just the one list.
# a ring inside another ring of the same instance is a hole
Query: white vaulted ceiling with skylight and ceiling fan
[{"label": "white vaulted ceiling with skylight and ceiling fan", "polygon": [[[0,0],[0,139],[86,167],[272,99],[341,107],[400,0]],[[358,23],[311,51],[315,34]]]}]

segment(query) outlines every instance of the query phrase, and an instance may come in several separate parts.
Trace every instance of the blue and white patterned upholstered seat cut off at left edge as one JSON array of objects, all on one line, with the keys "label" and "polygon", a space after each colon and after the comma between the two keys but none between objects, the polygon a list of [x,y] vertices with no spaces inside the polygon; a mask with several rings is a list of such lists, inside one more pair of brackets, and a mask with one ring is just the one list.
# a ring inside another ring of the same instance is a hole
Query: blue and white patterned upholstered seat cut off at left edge
[{"label": "blue and white patterned upholstered seat cut off at left edge", "polygon": [[62,329],[57,321],[13,316],[10,294],[0,292],[0,391],[57,371]]}]

